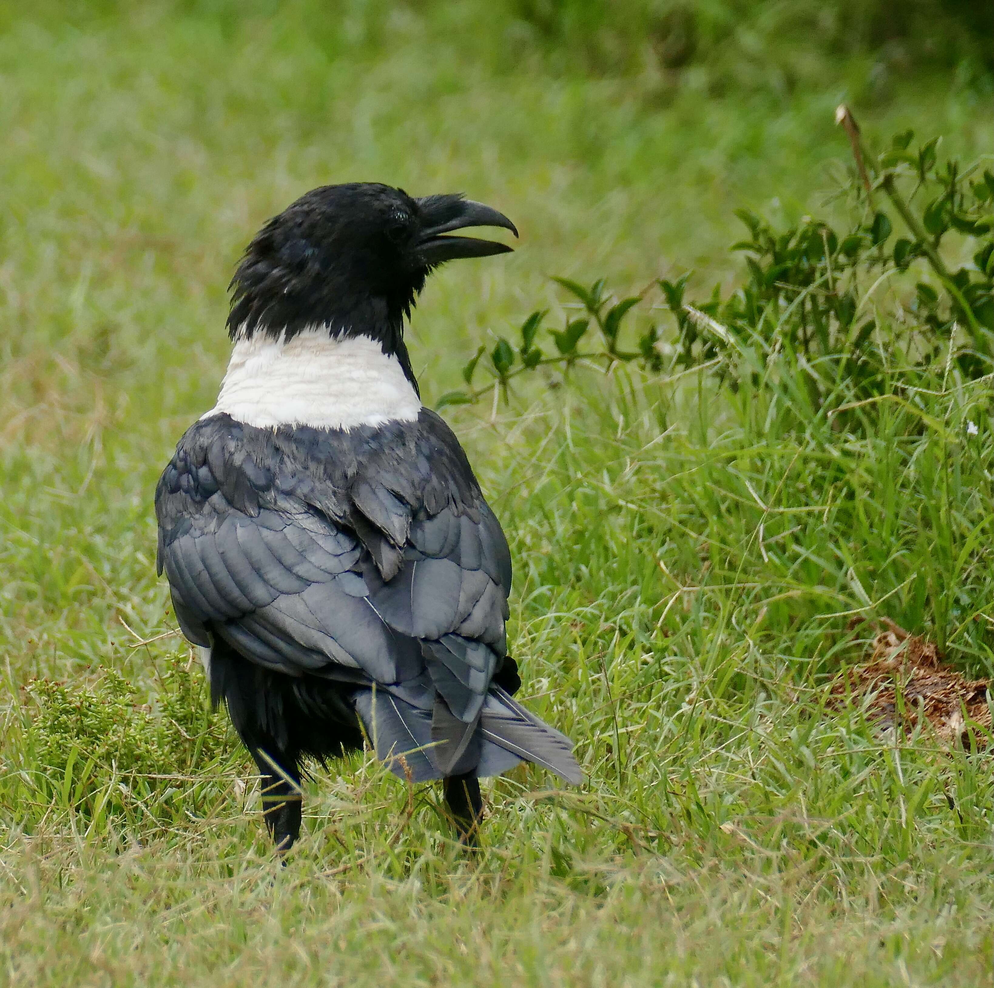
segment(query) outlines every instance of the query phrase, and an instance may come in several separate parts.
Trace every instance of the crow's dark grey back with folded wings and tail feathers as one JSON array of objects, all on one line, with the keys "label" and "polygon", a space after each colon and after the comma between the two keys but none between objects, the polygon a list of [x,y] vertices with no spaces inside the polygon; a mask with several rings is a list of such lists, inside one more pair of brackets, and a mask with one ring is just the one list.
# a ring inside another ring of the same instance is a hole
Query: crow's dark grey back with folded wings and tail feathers
[{"label": "crow's dark grey back with folded wings and tail feathers", "polygon": [[494,692],[510,555],[433,413],[348,431],[213,416],[181,440],[156,513],[191,641],[220,636],[268,669],[354,683],[378,754],[404,754],[415,778],[520,757],[579,772],[569,741]]}]

